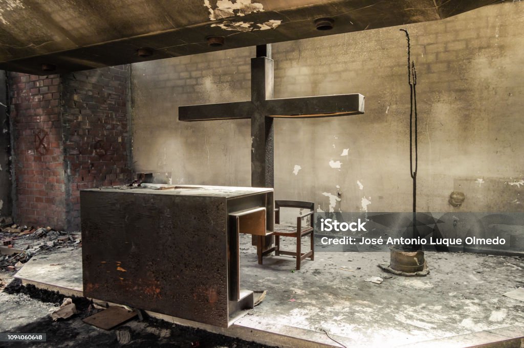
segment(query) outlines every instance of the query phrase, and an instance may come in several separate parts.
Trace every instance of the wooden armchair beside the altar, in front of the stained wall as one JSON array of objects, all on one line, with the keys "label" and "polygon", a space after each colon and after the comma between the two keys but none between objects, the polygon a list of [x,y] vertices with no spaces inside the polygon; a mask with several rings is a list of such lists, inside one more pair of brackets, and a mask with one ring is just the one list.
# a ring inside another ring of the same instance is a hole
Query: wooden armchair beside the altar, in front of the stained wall
[{"label": "wooden armchair beside the altar, in front of the stained wall", "polygon": [[[280,208],[297,208],[297,209],[309,209],[310,211],[307,214],[297,217],[296,226],[290,226],[280,223]],[[261,250],[261,241],[257,245],[258,252],[258,263],[262,264],[262,256],[266,255],[269,252],[275,251],[276,256],[280,255],[290,255],[294,256],[297,259],[297,271],[300,270],[300,263],[302,260],[309,258],[311,261],[315,257],[315,241],[314,241],[314,231],[313,231],[313,213],[314,213],[315,204],[311,202],[297,201],[297,200],[276,200],[275,201],[275,229],[272,233],[275,236],[275,246],[269,250],[262,252]],[[302,220],[310,216],[309,226],[302,226]],[[311,235],[311,250],[308,252],[302,253],[301,240],[302,237],[306,235]],[[296,251],[285,251],[280,250],[280,237],[293,237],[297,239],[297,250]],[[260,240],[260,239],[259,239]]]}]

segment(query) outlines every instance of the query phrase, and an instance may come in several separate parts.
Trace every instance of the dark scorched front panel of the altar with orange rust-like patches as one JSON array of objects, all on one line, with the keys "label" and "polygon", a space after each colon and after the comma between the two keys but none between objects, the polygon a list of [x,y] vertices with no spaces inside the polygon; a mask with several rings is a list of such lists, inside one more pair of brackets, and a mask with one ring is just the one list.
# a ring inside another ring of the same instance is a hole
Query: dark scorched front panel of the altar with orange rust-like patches
[{"label": "dark scorched front panel of the altar with orange rust-like patches", "polygon": [[227,327],[225,198],[80,198],[86,297]]}]

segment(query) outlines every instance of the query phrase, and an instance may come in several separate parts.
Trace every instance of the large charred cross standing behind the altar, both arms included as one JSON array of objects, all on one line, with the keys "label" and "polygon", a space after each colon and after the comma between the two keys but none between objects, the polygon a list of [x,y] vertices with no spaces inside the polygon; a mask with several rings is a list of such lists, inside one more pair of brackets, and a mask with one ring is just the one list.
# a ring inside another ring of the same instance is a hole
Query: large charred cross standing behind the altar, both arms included
[{"label": "large charred cross standing behind the altar, both arms included", "polygon": [[273,98],[271,45],[257,46],[251,59],[249,102],[188,105],[178,108],[181,121],[251,119],[251,186],[274,187],[273,119],[276,117],[333,117],[364,114],[364,96],[338,94],[318,97]]}]

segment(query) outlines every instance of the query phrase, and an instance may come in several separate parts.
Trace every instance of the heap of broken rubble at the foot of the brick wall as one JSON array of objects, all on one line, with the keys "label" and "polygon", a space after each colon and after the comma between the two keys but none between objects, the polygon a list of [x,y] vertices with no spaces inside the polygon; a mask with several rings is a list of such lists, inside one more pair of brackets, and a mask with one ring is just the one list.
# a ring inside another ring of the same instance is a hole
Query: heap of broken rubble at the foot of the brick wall
[{"label": "heap of broken rubble at the foot of the brick wall", "polygon": [[32,256],[60,248],[81,246],[81,234],[51,227],[18,226],[10,220],[0,225],[0,271],[18,271]]}]

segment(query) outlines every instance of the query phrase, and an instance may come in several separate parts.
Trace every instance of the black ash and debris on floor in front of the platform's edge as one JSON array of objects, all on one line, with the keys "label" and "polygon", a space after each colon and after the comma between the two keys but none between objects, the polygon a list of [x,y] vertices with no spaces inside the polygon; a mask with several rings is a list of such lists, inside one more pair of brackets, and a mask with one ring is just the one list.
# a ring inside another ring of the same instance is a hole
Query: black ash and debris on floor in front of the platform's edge
[{"label": "black ash and debris on floor in front of the platform's edge", "polygon": [[[3,283],[9,280],[3,274]],[[36,297],[36,298],[35,298]],[[163,320],[145,318],[132,320],[106,331],[85,324],[81,319],[93,309],[85,298],[74,298],[80,311],[66,320],[53,321],[49,313],[57,309],[63,295],[21,286],[12,280],[0,292],[2,320],[0,332],[46,333],[46,342],[2,342],[2,347],[71,347],[100,346],[119,347],[180,347],[180,348],[270,348],[254,342],[247,342],[200,329],[183,327]]]}]

